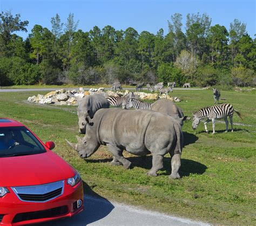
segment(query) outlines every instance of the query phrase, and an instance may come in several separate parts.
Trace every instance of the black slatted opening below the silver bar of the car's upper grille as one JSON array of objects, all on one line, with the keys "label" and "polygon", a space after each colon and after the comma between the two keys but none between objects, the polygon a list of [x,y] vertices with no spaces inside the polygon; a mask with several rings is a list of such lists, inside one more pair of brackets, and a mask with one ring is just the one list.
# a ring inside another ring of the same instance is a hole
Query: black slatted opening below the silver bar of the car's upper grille
[{"label": "black slatted opening below the silver bar of the car's upper grille", "polygon": [[34,195],[34,194],[18,194],[18,196],[24,201],[34,201],[34,202],[44,202],[51,200],[62,194],[62,188],[50,191],[49,193],[43,195]]}]

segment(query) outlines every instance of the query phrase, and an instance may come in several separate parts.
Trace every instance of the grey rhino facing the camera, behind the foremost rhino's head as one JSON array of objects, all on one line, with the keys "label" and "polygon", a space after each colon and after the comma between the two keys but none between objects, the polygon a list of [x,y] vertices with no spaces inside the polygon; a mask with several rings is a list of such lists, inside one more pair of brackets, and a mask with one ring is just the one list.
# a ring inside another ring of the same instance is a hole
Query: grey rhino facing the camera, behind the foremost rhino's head
[{"label": "grey rhino facing the camera, behind the foremost rhino's head", "polygon": [[85,134],[85,118],[89,115],[92,119],[100,108],[109,108],[109,101],[102,94],[86,95],[77,108],[79,133]]}]

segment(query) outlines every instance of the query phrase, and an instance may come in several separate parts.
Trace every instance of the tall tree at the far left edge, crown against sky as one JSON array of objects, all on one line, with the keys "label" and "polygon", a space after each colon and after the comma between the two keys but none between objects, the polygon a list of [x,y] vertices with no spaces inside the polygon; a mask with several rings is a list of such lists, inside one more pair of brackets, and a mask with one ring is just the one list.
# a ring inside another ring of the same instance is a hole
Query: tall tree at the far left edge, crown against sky
[{"label": "tall tree at the far left edge, crown against sky", "polygon": [[0,13],[0,41],[1,41],[1,54],[4,56],[9,56],[9,43],[11,41],[12,33],[15,31],[25,31],[26,26],[28,26],[28,20],[21,21],[21,15],[16,14],[15,17],[12,16],[11,11]]}]

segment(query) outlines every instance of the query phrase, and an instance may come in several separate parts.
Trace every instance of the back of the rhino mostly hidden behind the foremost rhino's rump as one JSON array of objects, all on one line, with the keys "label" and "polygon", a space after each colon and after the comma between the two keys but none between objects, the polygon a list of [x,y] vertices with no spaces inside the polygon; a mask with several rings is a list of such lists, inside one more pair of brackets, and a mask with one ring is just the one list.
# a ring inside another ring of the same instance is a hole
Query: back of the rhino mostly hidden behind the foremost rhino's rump
[{"label": "back of the rhino mostly hidden behind the foremost rhino's rump", "polygon": [[171,100],[167,100],[167,99],[157,100],[151,105],[151,111],[170,115],[174,119],[177,119],[181,123],[181,126],[183,126],[183,121],[180,121],[179,119],[183,118],[184,114],[182,110],[176,104],[174,104]]}]

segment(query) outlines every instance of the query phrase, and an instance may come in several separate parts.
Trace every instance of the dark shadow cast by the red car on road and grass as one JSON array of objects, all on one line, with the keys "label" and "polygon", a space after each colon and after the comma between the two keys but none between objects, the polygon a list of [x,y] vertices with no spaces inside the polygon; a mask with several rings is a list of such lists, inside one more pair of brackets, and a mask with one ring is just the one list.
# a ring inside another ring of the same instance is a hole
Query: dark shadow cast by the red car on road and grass
[{"label": "dark shadow cast by the red car on road and grass", "polygon": [[106,217],[114,209],[114,206],[106,198],[95,193],[90,186],[83,181],[84,210],[73,217],[36,224],[36,225],[87,225]]}]

